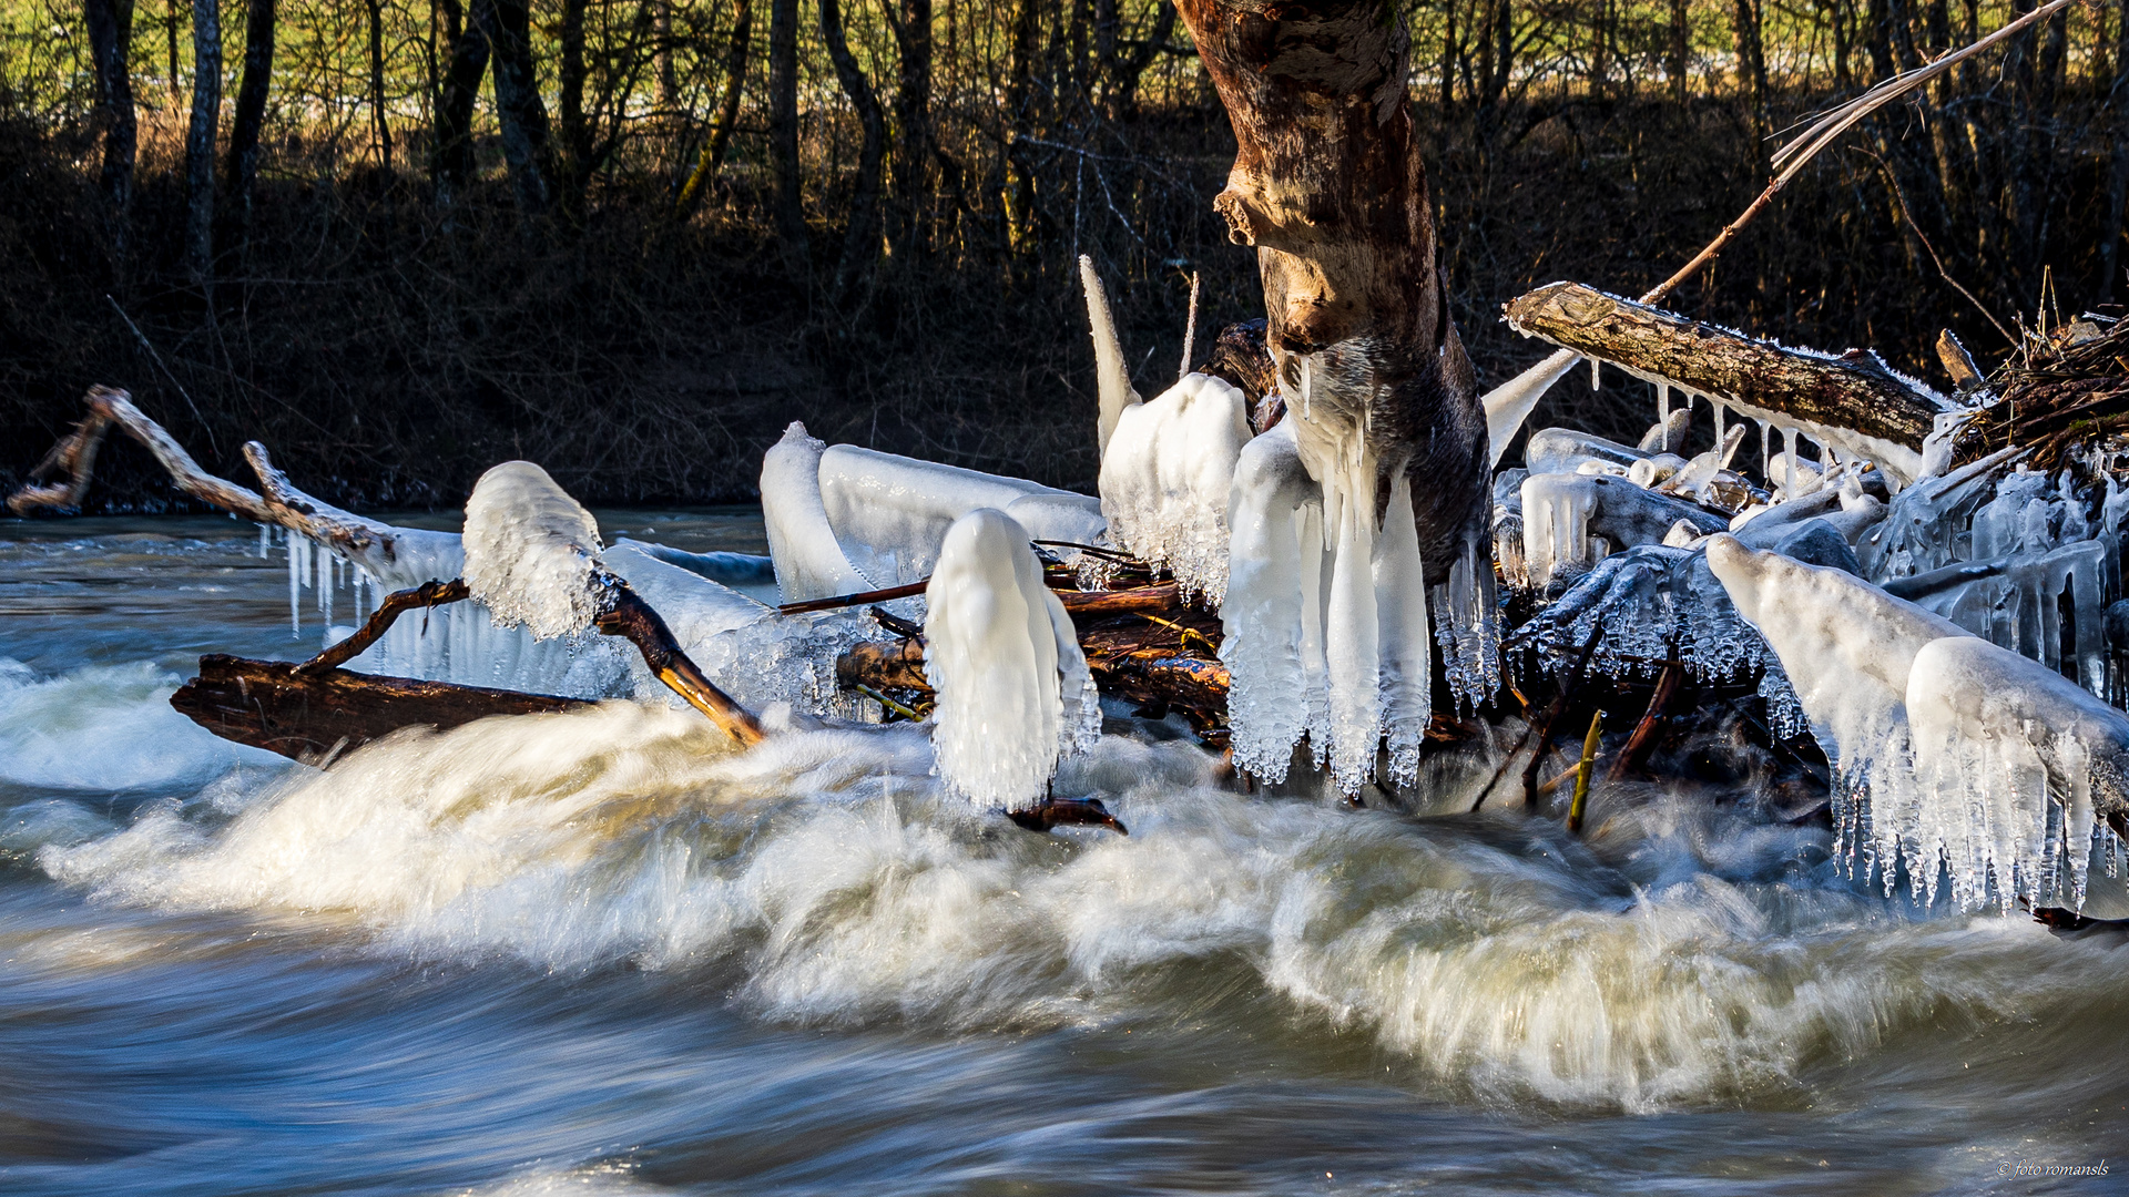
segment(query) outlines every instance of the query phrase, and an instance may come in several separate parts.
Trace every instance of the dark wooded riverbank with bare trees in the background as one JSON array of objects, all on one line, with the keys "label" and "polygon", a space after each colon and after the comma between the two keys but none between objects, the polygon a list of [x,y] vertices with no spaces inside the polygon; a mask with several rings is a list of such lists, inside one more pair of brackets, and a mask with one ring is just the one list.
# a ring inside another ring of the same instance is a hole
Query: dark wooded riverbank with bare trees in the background
[{"label": "dark wooded riverbank with bare trees in the background", "polygon": [[[2031,0],[1418,0],[1414,102],[1482,381],[1499,305],[1635,294],[1793,121]],[[754,492],[828,441],[1090,488],[1075,256],[1148,396],[1260,315],[1211,213],[1226,117],[1165,0],[0,0],[0,486],[89,383],[200,460],[456,505]],[[1669,307],[1944,386],[2125,294],[2129,32],[2072,6],[1822,155]],[[1539,422],[1637,434],[1575,373]],[[168,490],[111,452],[98,503]]]}]

